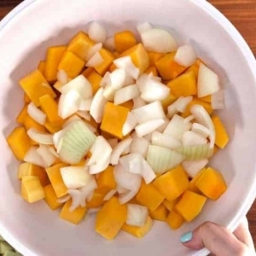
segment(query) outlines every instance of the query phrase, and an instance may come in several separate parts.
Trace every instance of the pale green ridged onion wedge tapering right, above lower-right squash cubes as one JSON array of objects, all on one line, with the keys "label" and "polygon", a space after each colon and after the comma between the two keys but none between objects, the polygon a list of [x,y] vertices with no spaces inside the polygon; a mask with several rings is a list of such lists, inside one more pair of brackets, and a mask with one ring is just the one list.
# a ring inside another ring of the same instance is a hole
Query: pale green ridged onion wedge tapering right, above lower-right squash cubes
[{"label": "pale green ridged onion wedge tapering right, above lower-right squash cubes", "polygon": [[183,154],[159,146],[150,145],[148,147],[147,161],[156,174],[162,174],[180,165],[185,157]]}]

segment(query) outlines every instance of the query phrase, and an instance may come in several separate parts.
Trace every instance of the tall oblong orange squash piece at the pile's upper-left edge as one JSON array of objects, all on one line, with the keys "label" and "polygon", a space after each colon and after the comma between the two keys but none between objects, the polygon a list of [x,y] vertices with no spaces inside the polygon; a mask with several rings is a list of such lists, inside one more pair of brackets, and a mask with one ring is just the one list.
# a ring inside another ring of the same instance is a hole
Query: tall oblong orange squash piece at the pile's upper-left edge
[{"label": "tall oblong orange squash piece at the pile's upper-left edge", "polygon": [[58,66],[66,49],[66,46],[53,46],[47,50],[44,69],[44,77],[47,81],[55,82],[57,80]]}]

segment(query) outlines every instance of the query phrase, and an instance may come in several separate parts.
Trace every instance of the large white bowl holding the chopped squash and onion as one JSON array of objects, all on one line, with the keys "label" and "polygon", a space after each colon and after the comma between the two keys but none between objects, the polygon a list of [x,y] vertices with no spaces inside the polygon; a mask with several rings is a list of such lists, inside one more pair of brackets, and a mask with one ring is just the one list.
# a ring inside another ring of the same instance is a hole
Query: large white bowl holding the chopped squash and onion
[{"label": "large white bowl holding the chopped squash and onion", "polygon": [[[15,125],[23,93],[18,80],[37,67],[47,47],[66,44],[90,20],[108,26],[109,33],[149,21],[169,28],[180,42],[193,44],[217,72],[226,91],[220,114],[231,142],[212,161],[229,184],[217,202],[208,202],[199,218],[172,231],[156,223],[137,240],[121,233],[105,241],[94,232],[94,218],[78,226],[58,218],[44,201],[26,204],[16,179],[18,163],[5,136]],[[206,220],[234,230],[256,195],[256,65],[253,54],[234,26],[205,0],[26,0],[0,23],[0,233],[18,250],[32,255],[207,255],[191,252],[179,237]]]}]

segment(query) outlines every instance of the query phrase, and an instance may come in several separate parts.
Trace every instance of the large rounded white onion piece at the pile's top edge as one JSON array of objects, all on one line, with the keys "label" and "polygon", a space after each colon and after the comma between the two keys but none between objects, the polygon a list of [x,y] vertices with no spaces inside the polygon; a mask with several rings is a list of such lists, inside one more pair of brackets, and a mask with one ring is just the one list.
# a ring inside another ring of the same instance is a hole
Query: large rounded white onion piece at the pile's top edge
[{"label": "large rounded white onion piece at the pile's top edge", "polygon": [[170,32],[152,28],[141,34],[143,46],[149,51],[168,53],[177,50],[177,42]]}]

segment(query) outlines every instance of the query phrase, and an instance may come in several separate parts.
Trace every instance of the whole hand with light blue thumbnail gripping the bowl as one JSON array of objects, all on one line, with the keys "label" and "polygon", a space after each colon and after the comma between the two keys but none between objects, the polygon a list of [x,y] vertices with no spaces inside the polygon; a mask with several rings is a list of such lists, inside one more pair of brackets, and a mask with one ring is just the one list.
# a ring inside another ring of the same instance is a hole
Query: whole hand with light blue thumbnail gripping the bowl
[{"label": "whole hand with light blue thumbnail gripping the bowl", "polygon": [[184,234],[181,242],[185,247],[194,250],[207,247],[216,256],[256,255],[247,218],[243,219],[233,234],[218,224],[206,222],[193,232]]}]

